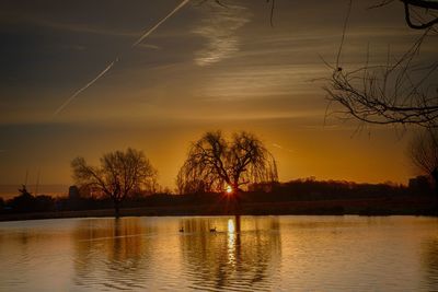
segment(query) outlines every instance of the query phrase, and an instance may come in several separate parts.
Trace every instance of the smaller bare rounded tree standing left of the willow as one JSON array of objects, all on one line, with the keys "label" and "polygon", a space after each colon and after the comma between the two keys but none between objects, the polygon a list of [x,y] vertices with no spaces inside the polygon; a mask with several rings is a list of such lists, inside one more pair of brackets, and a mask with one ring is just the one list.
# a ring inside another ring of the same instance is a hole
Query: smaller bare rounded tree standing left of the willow
[{"label": "smaller bare rounded tree standing left of the willow", "polygon": [[80,186],[99,189],[114,202],[115,217],[119,217],[120,203],[134,191],[154,182],[155,168],[142,151],[128,148],[101,157],[100,166],[88,165],[83,157],[71,162],[73,178]]}]

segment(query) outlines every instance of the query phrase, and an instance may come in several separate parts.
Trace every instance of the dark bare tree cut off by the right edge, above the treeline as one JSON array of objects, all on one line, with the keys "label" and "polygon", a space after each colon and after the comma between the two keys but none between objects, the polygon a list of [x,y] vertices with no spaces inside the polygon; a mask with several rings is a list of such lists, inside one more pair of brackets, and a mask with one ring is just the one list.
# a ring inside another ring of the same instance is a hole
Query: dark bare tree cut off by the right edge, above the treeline
[{"label": "dark bare tree cut off by the right edge, above the treeline", "polygon": [[425,129],[415,135],[408,154],[413,164],[434,179],[438,198],[438,129]]}]

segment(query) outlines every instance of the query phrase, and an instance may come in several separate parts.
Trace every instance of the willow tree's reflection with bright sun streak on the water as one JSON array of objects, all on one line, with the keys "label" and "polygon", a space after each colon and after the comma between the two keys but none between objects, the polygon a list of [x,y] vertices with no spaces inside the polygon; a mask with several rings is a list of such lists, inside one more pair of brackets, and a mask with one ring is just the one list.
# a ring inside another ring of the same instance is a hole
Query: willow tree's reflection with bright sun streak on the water
[{"label": "willow tree's reflection with bright sun streak on the water", "polygon": [[281,256],[278,219],[192,218],[181,225],[183,265],[195,288],[272,288]]}]

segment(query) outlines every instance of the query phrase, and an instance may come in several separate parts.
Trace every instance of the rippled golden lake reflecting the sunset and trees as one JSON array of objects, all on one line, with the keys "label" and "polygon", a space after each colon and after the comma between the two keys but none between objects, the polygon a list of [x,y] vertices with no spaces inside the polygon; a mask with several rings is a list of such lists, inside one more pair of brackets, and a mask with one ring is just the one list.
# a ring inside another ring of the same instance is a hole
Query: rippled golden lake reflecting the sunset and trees
[{"label": "rippled golden lake reflecting the sunset and trees", "polygon": [[0,270],[0,291],[437,291],[438,220],[1,222]]}]

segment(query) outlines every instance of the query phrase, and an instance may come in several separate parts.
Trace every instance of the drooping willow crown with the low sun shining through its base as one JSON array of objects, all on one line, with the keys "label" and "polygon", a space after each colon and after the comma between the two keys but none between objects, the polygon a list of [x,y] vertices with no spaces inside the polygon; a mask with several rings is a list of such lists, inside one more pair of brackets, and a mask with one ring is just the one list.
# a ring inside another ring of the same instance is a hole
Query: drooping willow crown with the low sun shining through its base
[{"label": "drooping willow crown with the low sun shining through its base", "polygon": [[181,192],[237,194],[250,183],[277,179],[274,156],[254,135],[240,131],[228,141],[221,131],[211,131],[192,143],[176,182]]}]

